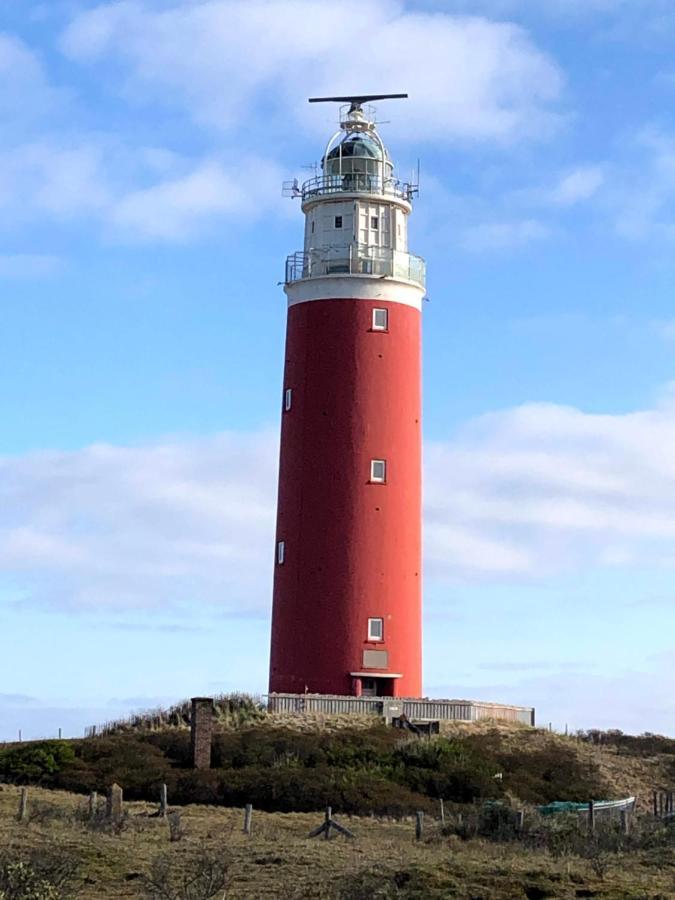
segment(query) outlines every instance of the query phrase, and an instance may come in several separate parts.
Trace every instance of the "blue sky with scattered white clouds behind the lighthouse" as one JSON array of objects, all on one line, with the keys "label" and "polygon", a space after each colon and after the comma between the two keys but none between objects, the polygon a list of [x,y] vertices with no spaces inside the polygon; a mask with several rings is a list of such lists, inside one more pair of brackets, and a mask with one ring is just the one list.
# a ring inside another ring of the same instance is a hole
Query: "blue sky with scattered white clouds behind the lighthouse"
[{"label": "blue sky with scattered white clouds behind the lighthouse", "polygon": [[674,39],[666,0],[0,0],[0,738],[265,689],[280,188],[306,98],[364,90],[421,160],[426,690],[675,733]]}]

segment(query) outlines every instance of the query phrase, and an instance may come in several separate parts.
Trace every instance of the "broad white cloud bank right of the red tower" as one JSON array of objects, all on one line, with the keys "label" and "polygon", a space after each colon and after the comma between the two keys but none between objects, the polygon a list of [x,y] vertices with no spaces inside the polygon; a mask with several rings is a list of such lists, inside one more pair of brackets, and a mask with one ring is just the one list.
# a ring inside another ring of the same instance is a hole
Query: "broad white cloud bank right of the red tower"
[{"label": "broad white cloud bank right of the red tower", "polygon": [[[623,416],[535,404],[478,419],[453,443],[427,449],[431,570],[546,575],[625,559],[672,565],[674,451],[668,397]],[[439,539],[449,522],[450,538]],[[467,538],[482,546],[471,553]]]}]

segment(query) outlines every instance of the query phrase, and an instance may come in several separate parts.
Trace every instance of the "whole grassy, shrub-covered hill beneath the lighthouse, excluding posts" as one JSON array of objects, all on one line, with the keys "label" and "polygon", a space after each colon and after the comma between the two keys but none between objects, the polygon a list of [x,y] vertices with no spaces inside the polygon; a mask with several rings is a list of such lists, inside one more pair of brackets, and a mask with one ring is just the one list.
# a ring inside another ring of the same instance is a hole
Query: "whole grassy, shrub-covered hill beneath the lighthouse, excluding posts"
[{"label": "whole grassy, shrub-covered hill beneath the lighthouse, excluding posts", "polygon": [[[675,897],[675,829],[650,815],[652,791],[675,782],[667,738],[446,723],[428,740],[370,720],[240,709],[220,717],[213,769],[195,772],[184,718],[112,732],[0,749],[1,900]],[[113,781],[134,801],[127,817],[119,827],[90,822],[83,794]],[[22,784],[30,818],[19,823]],[[182,810],[179,841],[153,817],[162,784]],[[589,839],[577,817],[536,812],[551,800],[633,794],[641,815],[628,836],[609,823]],[[255,810],[251,836],[241,832],[245,803]],[[327,803],[354,840],[308,839]],[[416,810],[425,812],[420,842]],[[522,833],[515,810],[525,812]],[[192,888],[180,887],[195,873]],[[8,878],[27,879],[25,890],[7,892]],[[43,879],[43,893],[31,878]]]}]

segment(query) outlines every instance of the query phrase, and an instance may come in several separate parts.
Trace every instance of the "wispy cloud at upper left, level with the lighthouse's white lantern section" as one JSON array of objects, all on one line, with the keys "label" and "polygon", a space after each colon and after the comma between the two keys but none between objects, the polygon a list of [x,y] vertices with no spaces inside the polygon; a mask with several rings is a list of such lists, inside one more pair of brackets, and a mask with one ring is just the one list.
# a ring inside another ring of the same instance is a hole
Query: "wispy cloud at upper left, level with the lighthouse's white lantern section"
[{"label": "wispy cloud at upper left, level with the lighthouse's white lantern section", "polygon": [[[226,166],[103,137],[35,141],[0,150],[0,229],[36,217],[91,219],[116,238],[186,240],[216,222],[250,223],[279,208],[281,181],[273,163],[243,155]],[[0,261],[0,275],[3,268],[18,270],[20,260]]]}]

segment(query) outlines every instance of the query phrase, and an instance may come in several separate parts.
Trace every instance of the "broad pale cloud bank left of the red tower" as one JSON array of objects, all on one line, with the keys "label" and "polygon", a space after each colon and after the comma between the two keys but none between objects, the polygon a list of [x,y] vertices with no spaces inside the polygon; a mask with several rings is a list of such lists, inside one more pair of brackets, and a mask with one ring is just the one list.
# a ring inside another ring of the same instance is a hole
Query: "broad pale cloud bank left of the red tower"
[{"label": "broad pale cloud bank left of the red tower", "polygon": [[267,603],[274,440],[0,460],[0,571],[58,607]]}]

